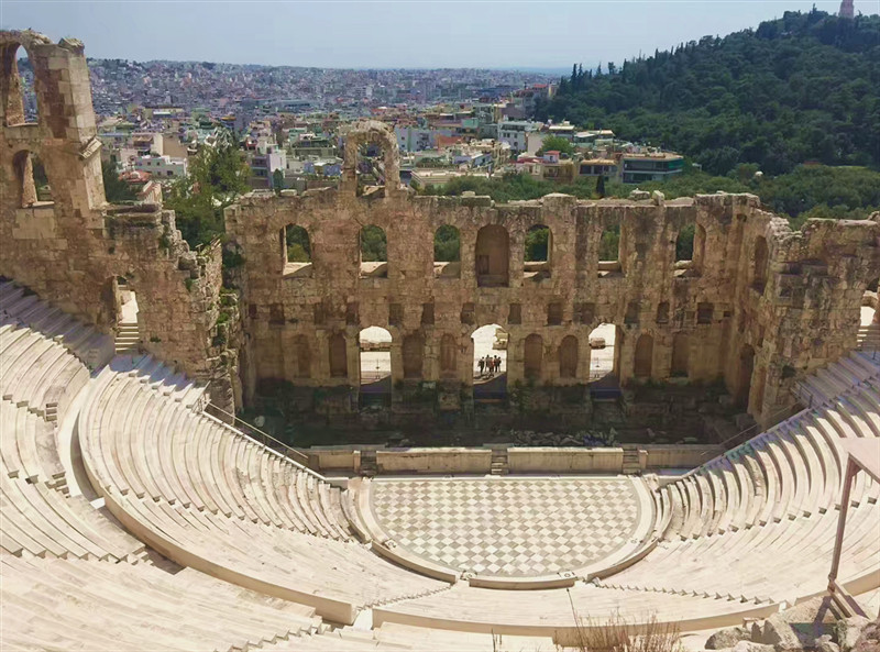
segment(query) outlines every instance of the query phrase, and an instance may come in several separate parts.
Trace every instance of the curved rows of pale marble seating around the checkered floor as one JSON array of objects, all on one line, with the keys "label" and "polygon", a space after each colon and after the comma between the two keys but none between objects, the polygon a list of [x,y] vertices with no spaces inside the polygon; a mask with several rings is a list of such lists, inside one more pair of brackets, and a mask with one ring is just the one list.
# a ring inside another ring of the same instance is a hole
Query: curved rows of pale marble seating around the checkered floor
[{"label": "curved rows of pale marble seating around the checkered floor", "polygon": [[[376,555],[353,535],[349,490],[201,412],[183,374],[111,354],[107,335],[0,283],[2,629],[24,649],[492,650],[493,632],[548,649],[618,614],[737,623],[825,590],[843,442],[880,436],[880,361],[856,352],[798,384],[798,415],[653,478],[652,540],[627,564],[566,588],[484,588]],[[62,438],[74,422],[78,439]],[[80,453],[88,480],[74,482]],[[850,593],[880,586],[880,486],[857,478]],[[88,483],[98,497],[72,491]],[[321,621],[367,609],[373,631]]]}]

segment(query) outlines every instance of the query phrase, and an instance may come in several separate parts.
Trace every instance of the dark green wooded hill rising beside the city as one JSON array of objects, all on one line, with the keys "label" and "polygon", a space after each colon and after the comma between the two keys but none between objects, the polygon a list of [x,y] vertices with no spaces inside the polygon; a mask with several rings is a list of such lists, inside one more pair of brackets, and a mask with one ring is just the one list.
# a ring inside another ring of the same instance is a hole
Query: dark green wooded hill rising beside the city
[{"label": "dark green wooded hill rising beside the city", "polygon": [[619,67],[575,66],[537,117],[612,129],[681,152],[713,175],[740,163],[769,175],[807,161],[876,167],[880,16],[785,12]]}]

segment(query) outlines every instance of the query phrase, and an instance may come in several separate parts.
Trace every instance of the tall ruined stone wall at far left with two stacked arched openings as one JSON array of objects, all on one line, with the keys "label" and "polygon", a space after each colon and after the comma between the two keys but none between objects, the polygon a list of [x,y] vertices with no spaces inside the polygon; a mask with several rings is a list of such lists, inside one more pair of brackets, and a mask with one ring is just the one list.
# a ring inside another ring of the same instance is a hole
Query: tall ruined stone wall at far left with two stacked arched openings
[{"label": "tall ruined stone wall at far left with two stacked arched openings", "polygon": [[[35,71],[38,121],[25,123],[14,68],[24,47]],[[220,313],[220,248],[190,252],[174,213],[157,206],[112,207],[101,177],[100,141],[82,44],[33,32],[0,32],[0,274],[111,332],[114,285],[138,297],[143,345],[191,376],[212,380],[231,407]],[[28,153],[43,162],[52,201],[36,202]]]}]

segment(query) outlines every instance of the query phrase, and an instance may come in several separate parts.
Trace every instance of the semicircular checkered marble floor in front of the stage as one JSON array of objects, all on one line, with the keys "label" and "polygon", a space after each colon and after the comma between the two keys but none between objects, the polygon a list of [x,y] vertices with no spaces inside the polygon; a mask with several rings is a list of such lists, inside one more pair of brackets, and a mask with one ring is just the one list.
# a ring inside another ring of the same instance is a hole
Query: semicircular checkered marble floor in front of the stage
[{"label": "semicircular checkered marble floor in front of the stage", "polygon": [[628,478],[375,478],[377,523],[425,560],[481,575],[576,571],[631,544],[642,518]]}]

